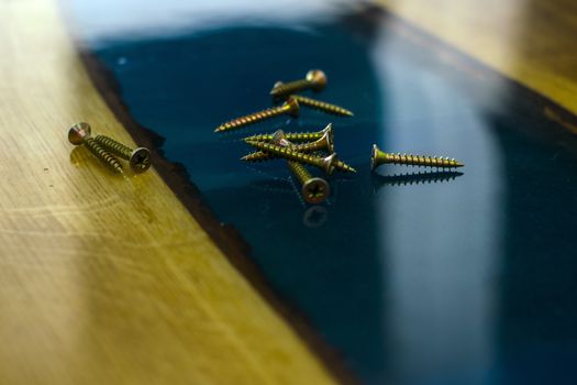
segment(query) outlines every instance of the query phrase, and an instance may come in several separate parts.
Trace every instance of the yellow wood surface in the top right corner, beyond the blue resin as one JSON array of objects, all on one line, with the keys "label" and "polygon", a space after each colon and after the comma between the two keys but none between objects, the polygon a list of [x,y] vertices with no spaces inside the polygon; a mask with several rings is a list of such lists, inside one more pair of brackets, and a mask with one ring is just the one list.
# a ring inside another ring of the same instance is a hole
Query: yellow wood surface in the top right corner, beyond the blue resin
[{"label": "yellow wood surface in the top right corner, beyond the blue resin", "polygon": [[577,112],[574,0],[380,0],[391,13]]}]

